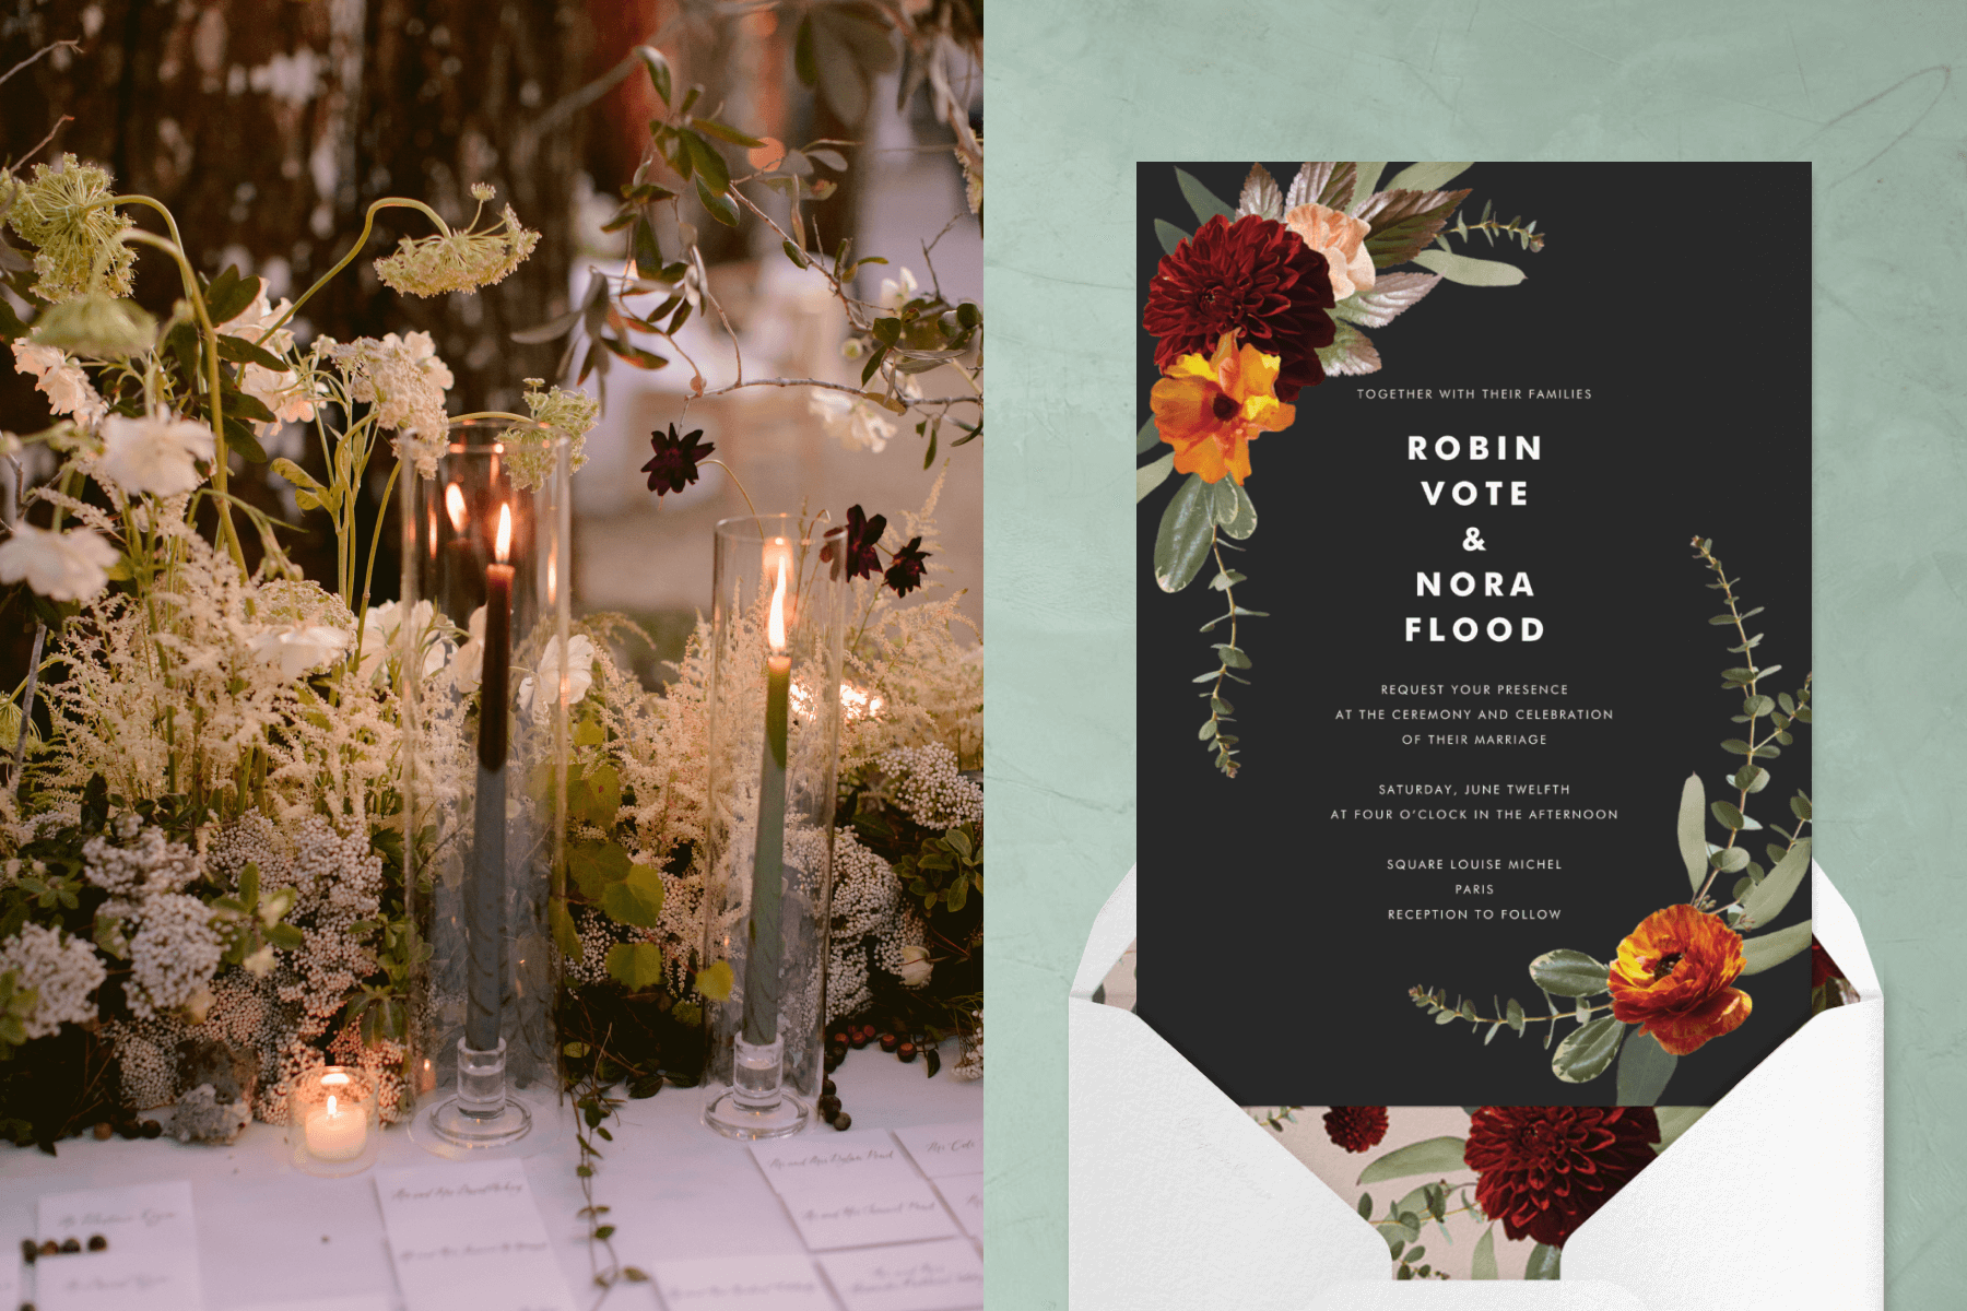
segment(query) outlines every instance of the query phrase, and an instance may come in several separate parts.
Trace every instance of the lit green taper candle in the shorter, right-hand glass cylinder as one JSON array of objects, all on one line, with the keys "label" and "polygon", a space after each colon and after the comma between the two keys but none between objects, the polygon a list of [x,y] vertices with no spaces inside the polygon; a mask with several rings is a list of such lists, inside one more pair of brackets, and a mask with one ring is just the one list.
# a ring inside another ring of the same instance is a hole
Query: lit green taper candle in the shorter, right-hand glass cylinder
[{"label": "lit green taper candle in the shorter, right-hand glass cylinder", "polygon": [[793,656],[785,651],[785,586],[793,564],[791,544],[775,537],[765,544],[765,568],[779,574],[765,619],[765,749],[757,770],[757,843],[751,855],[751,922],[744,957],[744,1040],[763,1046],[779,1038],[779,961],[785,941],[779,928],[779,892],[785,881],[785,717],[793,688]]}]

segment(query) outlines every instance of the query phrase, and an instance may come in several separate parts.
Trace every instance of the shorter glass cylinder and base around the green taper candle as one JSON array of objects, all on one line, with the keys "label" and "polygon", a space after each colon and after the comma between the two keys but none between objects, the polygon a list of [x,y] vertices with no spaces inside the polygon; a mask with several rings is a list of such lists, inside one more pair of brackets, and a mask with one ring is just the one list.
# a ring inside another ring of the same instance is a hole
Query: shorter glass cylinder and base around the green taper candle
[{"label": "shorter glass cylinder and base around the green taper candle", "polygon": [[720,981],[702,989],[704,1122],[730,1138],[799,1132],[826,1075],[846,633],[828,527],[745,515],[716,529],[700,977]]}]

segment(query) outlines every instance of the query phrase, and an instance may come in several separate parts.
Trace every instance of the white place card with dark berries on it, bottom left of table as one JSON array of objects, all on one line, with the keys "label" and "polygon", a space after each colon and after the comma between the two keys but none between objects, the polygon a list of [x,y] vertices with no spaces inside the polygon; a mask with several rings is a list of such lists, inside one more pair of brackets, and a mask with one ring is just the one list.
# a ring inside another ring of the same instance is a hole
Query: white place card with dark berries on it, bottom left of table
[{"label": "white place card with dark berries on it, bottom left of table", "polygon": [[[41,1240],[77,1238],[83,1252],[43,1256],[33,1264],[33,1301],[41,1311],[203,1311],[199,1228],[191,1219],[191,1183],[49,1193],[35,1215]],[[94,1234],[108,1240],[89,1252]]]}]

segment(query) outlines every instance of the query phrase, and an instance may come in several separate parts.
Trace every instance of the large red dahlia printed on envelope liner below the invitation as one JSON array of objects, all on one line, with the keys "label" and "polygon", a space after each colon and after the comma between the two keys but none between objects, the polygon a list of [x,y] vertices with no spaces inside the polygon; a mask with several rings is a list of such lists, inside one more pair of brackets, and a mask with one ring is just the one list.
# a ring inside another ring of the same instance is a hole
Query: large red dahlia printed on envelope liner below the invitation
[{"label": "large red dahlia printed on envelope liner below the invitation", "polygon": [[1658,1140],[1652,1107],[1481,1107],[1461,1160],[1483,1215],[1556,1248],[1652,1164]]}]

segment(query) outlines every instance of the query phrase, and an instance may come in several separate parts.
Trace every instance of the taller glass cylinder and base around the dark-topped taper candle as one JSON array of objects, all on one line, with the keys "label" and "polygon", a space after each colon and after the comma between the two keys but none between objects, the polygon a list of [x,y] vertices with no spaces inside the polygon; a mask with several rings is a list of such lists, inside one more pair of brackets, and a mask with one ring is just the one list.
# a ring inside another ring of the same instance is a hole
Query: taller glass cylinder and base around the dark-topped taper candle
[{"label": "taller glass cylinder and base around the dark-topped taper candle", "polygon": [[[519,421],[460,421],[429,476],[401,478],[405,888],[431,955],[411,1006],[411,1136],[441,1154],[511,1146],[517,1093],[555,1087],[565,877],[568,444]],[[405,674],[403,670],[413,670]]]}]

